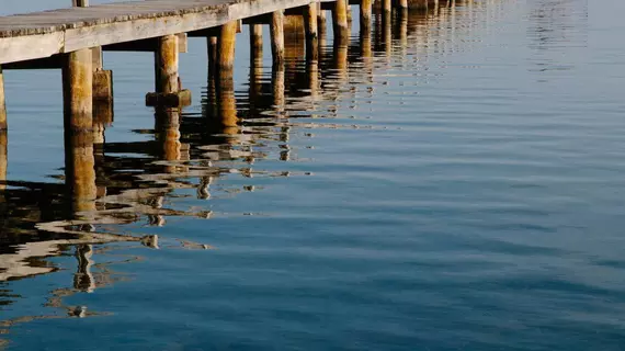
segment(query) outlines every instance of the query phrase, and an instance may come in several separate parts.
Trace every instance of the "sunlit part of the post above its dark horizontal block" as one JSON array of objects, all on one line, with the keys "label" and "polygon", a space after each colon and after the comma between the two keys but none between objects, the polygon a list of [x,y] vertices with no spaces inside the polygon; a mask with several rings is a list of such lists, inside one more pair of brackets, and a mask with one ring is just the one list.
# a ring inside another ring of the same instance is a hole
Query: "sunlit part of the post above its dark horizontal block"
[{"label": "sunlit part of the post above its dark horizontal block", "polygon": [[178,35],[158,38],[156,57],[156,92],[175,93],[179,91]]}]

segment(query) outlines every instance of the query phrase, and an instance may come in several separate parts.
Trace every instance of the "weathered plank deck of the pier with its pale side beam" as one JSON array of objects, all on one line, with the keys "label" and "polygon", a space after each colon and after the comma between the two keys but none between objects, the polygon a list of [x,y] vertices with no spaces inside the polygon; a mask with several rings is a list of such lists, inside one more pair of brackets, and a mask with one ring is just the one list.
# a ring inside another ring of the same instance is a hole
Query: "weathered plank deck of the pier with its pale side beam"
[{"label": "weathered plank deck of the pier with its pale side beam", "polygon": [[310,0],[145,0],[0,16],[0,64],[219,26]]}]

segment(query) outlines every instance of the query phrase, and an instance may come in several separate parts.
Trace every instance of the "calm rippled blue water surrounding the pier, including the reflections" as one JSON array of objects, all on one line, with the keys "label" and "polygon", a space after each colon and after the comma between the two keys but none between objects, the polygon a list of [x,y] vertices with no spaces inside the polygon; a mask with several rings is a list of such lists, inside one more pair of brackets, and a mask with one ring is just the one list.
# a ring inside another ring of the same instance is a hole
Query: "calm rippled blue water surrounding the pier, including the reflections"
[{"label": "calm rippled blue water surrounding the pier, including the reflections", "polygon": [[159,249],[36,229],[72,218],[60,72],[5,72],[0,349],[621,350],[623,10],[456,3],[378,21],[371,56],[354,19],[318,84],[293,37],[272,75],[268,33],[250,80],[245,27],[228,128],[205,41],[181,56],[194,103],[169,129],[144,106],[151,54],[105,53],[91,229]]}]

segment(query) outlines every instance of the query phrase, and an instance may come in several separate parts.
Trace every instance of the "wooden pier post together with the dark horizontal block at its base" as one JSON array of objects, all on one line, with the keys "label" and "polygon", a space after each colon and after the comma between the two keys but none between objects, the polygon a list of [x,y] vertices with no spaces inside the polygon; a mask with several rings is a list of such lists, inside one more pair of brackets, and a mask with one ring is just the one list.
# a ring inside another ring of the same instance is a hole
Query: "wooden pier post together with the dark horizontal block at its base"
[{"label": "wooden pier post together with the dark horizontal block at its base", "polygon": [[191,103],[191,92],[182,90],[178,73],[179,36],[158,38],[155,53],[155,93],[146,95],[148,106],[180,106]]}]

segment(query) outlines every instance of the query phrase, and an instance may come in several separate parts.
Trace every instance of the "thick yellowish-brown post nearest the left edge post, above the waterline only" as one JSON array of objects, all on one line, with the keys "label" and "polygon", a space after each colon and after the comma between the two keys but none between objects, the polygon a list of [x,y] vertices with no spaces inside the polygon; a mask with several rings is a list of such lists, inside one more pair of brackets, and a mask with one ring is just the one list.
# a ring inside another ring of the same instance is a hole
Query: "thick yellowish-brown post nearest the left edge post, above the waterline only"
[{"label": "thick yellowish-brown post nearest the left edge post, above the waterline only", "polygon": [[63,92],[66,132],[91,131],[93,120],[93,69],[91,49],[66,55]]}]

